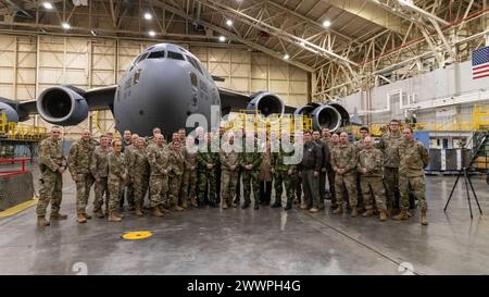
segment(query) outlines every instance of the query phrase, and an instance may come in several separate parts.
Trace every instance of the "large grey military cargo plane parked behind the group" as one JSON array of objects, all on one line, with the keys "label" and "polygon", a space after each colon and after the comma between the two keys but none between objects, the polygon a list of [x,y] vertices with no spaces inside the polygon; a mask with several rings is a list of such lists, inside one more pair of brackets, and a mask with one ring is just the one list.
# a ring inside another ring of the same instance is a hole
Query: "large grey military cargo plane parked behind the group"
[{"label": "large grey military cargo plane parked behind the group", "polygon": [[231,111],[254,110],[263,116],[296,113],[313,117],[315,128],[336,131],[350,122],[340,104],[311,103],[298,109],[268,91],[243,95],[217,87],[221,81],[209,74],[190,51],[173,44],[158,44],[136,57],[120,83],[83,90],[72,85],[45,89],[37,100],[15,101],[0,97],[0,111],[9,122],[27,121],[38,113],[48,123],[70,126],[83,122],[92,110],[110,109],[120,132],[130,129],[151,135],[161,127],[165,135],[186,126],[191,114],[211,119],[211,106],[221,115]]}]

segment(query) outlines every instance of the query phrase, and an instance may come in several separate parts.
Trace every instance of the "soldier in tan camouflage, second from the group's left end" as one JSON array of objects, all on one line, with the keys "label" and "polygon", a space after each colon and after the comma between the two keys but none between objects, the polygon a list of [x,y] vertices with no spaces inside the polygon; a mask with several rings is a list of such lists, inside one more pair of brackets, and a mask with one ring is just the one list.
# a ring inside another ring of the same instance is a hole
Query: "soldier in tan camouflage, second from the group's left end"
[{"label": "soldier in tan camouflage, second from the group's left end", "polygon": [[93,176],[90,172],[90,162],[95,150],[91,144],[89,129],[82,132],[82,139],[75,141],[70,148],[68,169],[73,181],[76,183],[76,213],[78,223],[86,223],[91,219],[87,214],[88,197],[93,185]]}]

